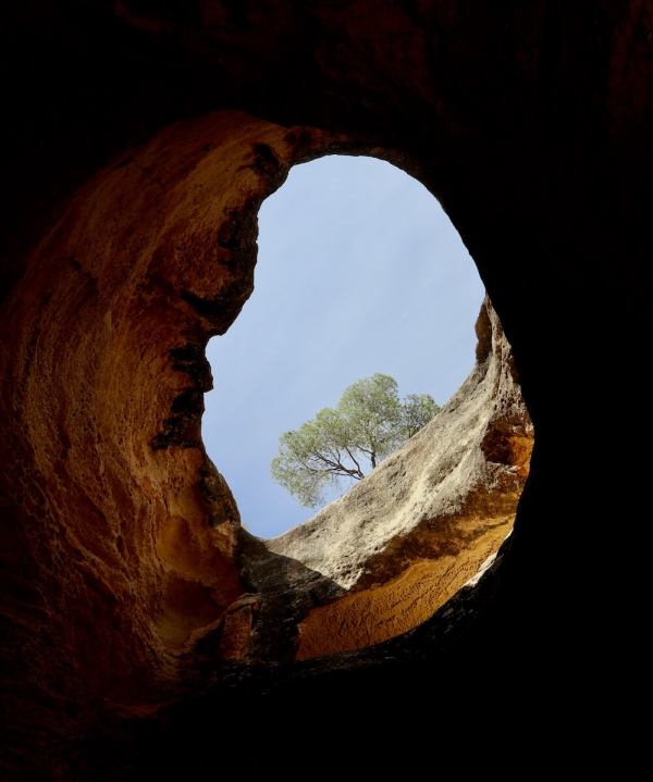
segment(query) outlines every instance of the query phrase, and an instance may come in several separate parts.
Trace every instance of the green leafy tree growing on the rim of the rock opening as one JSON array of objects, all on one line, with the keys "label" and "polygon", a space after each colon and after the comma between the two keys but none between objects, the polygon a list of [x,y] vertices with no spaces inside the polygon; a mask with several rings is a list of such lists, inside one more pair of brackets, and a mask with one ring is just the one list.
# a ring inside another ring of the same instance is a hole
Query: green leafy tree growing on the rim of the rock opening
[{"label": "green leafy tree growing on the rim of the rock opening", "polygon": [[297,501],[316,508],[329,486],[360,481],[440,410],[429,394],[399,400],[396,381],[377,373],[350,385],[335,408],[324,408],[298,430],[279,438],[272,479]]}]

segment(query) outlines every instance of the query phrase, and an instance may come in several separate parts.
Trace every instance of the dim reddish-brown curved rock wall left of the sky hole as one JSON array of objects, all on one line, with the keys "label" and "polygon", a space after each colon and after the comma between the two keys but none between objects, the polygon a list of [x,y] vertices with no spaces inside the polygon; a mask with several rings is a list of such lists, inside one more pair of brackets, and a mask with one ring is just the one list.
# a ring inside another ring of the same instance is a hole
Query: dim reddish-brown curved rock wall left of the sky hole
[{"label": "dim reddish-brown curved rock wall left of the sky hole", "polygon": [[[204,348],[252,290],[262,199],[342,142],[238,112],[180,123],[86,183],[27,259],[0,312],[2,672],[45,704],[19,744],[66,703],[152,712],[197,686],[199,642],[215,665],[247,653]],[[71,713],[73,736],[97,720]]]}]

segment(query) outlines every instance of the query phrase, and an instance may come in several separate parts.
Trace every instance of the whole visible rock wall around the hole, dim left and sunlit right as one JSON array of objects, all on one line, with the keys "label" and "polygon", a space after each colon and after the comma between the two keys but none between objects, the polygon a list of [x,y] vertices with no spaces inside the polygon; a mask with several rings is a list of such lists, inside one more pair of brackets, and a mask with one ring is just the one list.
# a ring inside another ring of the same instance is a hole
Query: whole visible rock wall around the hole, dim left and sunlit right
[{"label": "whole visible rock wall around the hole, dim left and sunlit right", "polygon": [[[5,561],[22,550],[2,615],[23,649],[5,647],[5,673],[20,681],[33,660],[48,704],[20,731],[52,730],[62,687],[66,703],[144,716],[223,665],[393,637],[510,529],[532,427],[489,302],[479,363],[449,405],[297,530],[251,541],[206,456],[204,347],[254,288],[258,207],[292,164],[332,151],[405,162],[238,112],[178,123],[84,185],[2,306]],[[78,713],[65,731],[83,736],[97,716]]]}]

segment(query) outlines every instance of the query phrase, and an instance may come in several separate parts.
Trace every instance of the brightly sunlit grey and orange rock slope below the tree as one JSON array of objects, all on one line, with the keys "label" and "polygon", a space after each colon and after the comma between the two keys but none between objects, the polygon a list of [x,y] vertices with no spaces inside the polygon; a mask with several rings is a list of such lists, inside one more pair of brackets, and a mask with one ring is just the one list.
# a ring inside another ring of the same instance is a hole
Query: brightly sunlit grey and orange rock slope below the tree
[{"label": "brightly sunlit grey and orange rock slope below the tree", "polygon": [[254,657],[269,660],[272,649],[288,657],[276,635],[282,619],[298,660],[405,633],[475,576],[510,532],[533,429],[488,298],[477,335],[473,370],[431,423],[313,519],[266,542],[284,563],[276,580],[274,558],[260,544],[251,553],[244,545],[244,573],[260,598]]}]

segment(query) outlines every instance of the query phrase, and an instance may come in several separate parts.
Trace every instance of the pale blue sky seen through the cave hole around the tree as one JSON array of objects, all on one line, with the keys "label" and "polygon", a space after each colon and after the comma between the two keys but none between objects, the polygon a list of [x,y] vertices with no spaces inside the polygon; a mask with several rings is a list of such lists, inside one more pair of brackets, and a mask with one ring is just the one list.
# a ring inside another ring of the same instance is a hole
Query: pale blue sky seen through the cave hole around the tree
[{"label": "pale blue sky seen through the cave hole around the tree", "polygon": [[258,244],[254,294],[207,348],[202,437],[243,522],[274,537],[313,514],[270,477],[280,435],[375,372],[443,405],[473,364],[484,290],[438,200],[372,158],[295,166]]}]

